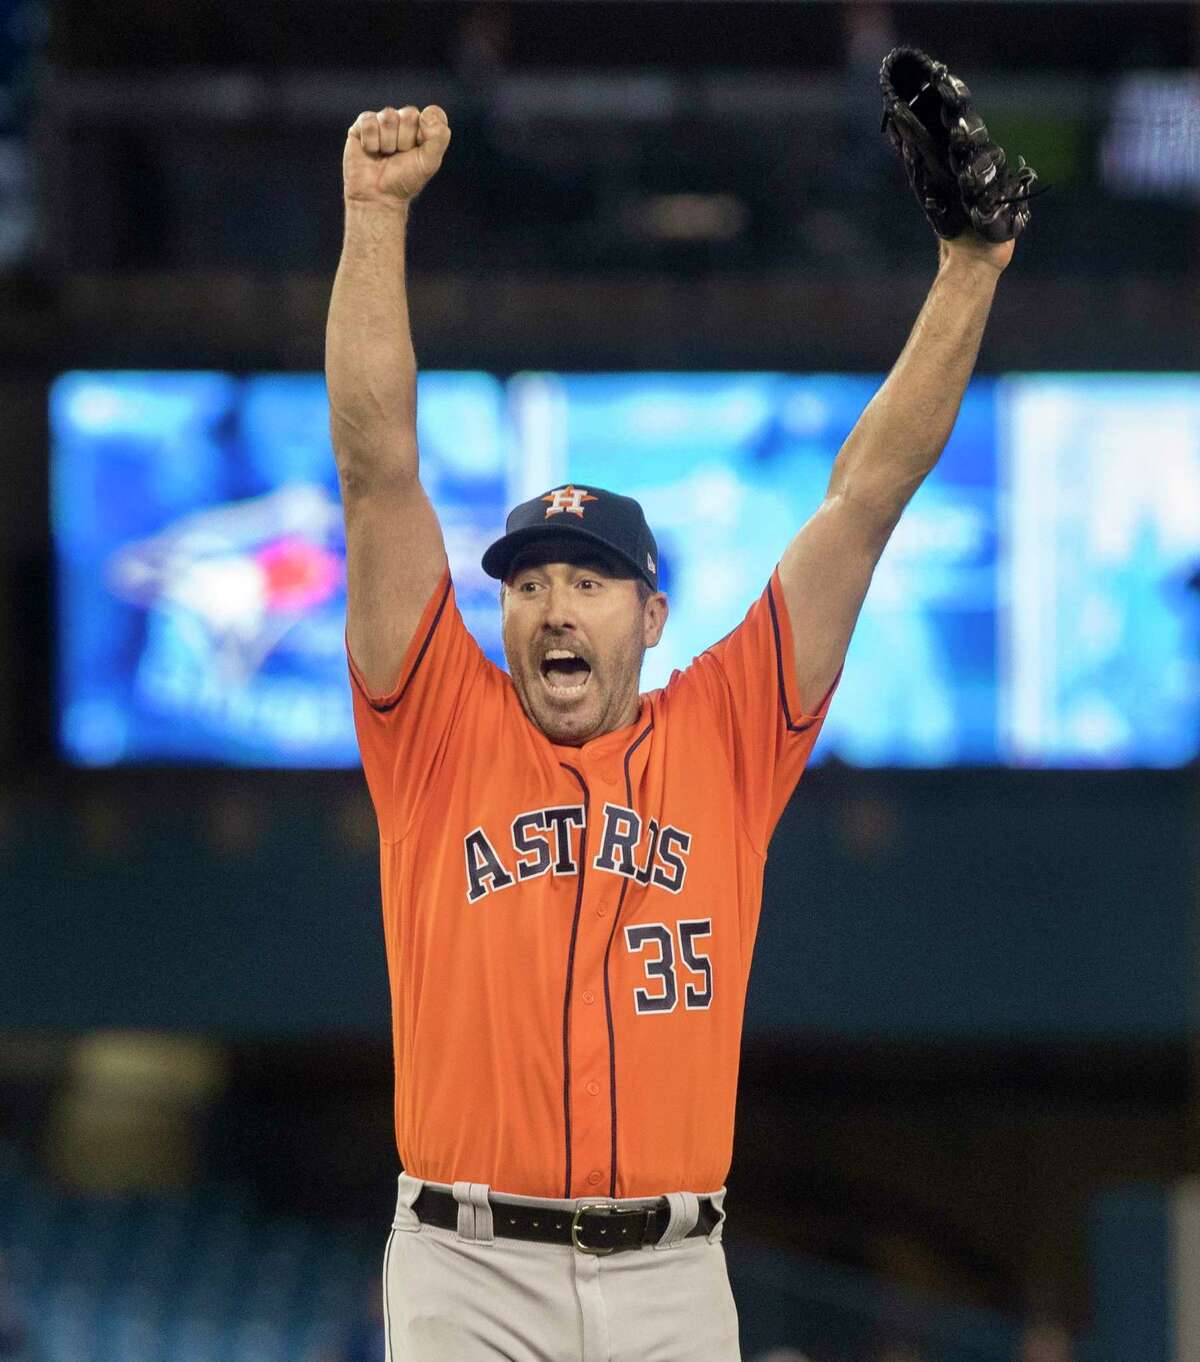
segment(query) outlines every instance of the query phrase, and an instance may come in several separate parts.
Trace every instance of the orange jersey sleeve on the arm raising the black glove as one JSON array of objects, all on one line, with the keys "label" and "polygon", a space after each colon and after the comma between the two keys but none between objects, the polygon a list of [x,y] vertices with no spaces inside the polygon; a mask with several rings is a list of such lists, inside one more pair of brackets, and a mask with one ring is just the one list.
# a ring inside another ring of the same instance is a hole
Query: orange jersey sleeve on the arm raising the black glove
[{"label": "orange jersey sleeve on the arm raising the black glove", "polygon": [[801,710],[791,621],[779,569],[719,643],[667,686],[708,707],[723,734],[745,828],[765,854],[775,824],[800,782],[840,673],[812,714]]}]

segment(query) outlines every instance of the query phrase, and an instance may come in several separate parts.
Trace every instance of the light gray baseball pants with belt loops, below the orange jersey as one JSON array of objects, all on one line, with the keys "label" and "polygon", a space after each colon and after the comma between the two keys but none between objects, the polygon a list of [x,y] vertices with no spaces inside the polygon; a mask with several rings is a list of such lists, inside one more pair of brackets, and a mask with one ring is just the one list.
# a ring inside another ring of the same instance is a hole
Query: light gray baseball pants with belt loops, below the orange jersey
[{"label": "light gray baseball pants with belt loops, below the orange jersey", "polygon": [[[422,1186],[399,1175],[383,1263],[387,1362],[740,1362],[721,1245],[725,1215],[707,1238],[684,1238],[699,1215],[695,1193],[670,1193],[661,1244],[601,1257],[493,1234],[489,1194],[492,1203],[554,1211],[578,1201],[430,1182],[454,1192],[455,1231],[417,1219],[413,1203]],[[719,1209],[725,1188],[710,1194]]]}]

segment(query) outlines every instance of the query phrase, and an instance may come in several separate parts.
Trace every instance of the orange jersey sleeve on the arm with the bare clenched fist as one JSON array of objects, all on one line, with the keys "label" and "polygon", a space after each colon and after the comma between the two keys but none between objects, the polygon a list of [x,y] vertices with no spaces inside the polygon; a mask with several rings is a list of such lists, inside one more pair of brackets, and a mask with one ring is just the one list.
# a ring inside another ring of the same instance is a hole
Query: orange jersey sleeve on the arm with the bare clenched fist
[{"label": "orange jersey sleeve on the arm with the bare clenched fist", "polygon": [[490,663],[463,624],[449,569],[425,606],[392,691],[372,695],[349,647],[346,658],[354,731],[379,832],[385,842],[398,842],[409,831],[445,756],[451,730]]}]

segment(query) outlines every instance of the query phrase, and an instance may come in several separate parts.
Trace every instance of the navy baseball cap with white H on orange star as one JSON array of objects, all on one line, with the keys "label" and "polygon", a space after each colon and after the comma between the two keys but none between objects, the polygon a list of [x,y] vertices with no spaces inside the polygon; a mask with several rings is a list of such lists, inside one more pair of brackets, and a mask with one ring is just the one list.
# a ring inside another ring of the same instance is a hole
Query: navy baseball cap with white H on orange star
[{"label": "navy baseball cap with white H on orange star", "polygon": [[503,582],[527,543],[557,535],[602,545],[648,582],[651,591],[658,591],[658,545],[642,507],[617,492],[569,482],[508,512],[504,538],[484,554],[484,571]]}]

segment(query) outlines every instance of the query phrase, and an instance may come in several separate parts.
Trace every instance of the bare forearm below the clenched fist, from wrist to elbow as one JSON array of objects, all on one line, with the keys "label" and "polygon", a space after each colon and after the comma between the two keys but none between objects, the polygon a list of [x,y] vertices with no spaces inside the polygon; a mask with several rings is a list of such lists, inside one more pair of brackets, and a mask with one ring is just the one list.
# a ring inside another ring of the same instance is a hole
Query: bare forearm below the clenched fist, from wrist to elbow
[{"label": "bare forearm below the clenched fist, from wrist to elbow", "polygon": [[343,479],[417,474],[407,221],[407,203],[346,203],[342,259],[326,323],[330,428]]}]

